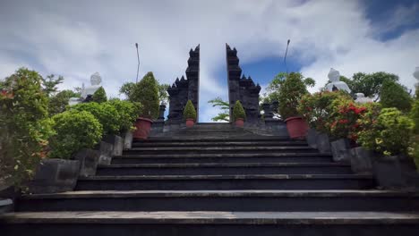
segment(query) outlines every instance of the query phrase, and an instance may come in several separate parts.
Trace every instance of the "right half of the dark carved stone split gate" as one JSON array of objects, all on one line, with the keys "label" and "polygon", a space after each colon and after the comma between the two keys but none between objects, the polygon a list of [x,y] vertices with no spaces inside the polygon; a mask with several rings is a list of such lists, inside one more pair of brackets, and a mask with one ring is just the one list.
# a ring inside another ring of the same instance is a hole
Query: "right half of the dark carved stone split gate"
[{"label": "right half of the dark carved stone split gate", "polygon": [[235,101],[240,100],[246,113],[245,122],[257,124],[260,121],[259,92],[261,91],[261,86],[259,84],[255,85],[250,76],[247,78],[244,75],[242,76],[237,50],[235,48],[231,49],[227,44],[226,59],[230,117],[233,117]]}]

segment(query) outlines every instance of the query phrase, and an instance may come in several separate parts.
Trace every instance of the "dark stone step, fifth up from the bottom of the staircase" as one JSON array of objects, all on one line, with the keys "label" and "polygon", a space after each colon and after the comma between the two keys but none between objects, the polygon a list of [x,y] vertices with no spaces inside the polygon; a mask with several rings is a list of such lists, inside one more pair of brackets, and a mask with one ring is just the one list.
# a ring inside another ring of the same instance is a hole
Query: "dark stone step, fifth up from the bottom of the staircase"
[{"label": "dark stone step, fifth up from the bottom of the staircase", "polygon": [[329,154],[246,153],[246,154],[165,154],[114,156],[112,164],[188,164],[188,163],[330,163]]}]

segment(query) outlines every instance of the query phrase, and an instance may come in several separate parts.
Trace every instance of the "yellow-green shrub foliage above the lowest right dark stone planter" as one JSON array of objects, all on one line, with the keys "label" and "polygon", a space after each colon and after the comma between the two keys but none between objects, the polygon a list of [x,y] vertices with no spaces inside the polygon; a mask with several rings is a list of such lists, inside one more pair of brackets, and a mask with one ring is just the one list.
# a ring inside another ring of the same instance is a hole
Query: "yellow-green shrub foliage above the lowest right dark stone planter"
[{"label": "yellow-green shrub foliage above the lowest right dark stone planter", "polygon": [[385,156],[406,155],[414,124],[397,108],[383,108],[375,120],[373,114],[359,119],[357,142]]}]

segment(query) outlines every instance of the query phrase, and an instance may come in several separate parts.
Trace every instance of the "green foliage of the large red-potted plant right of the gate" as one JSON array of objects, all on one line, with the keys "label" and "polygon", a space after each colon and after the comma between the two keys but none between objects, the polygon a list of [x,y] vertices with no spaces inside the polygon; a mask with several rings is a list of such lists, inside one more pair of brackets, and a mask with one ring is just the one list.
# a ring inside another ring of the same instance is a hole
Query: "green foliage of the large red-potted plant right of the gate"
[{"label": "green foliage of the large red-potted plant right of the gate", "polygon": [[[308,94],[307,86],[314,86],[315,82],[311,78],[304,79],[299,72],[289,74],[279,73],[278,76],[269,84],[271,97],[279,102],[279,114],[282,119],[300,115],[297,106],[301,97]],[[273,87],[271,87],[271,85]],[[273,95],[272,95],[273,94]]]}]

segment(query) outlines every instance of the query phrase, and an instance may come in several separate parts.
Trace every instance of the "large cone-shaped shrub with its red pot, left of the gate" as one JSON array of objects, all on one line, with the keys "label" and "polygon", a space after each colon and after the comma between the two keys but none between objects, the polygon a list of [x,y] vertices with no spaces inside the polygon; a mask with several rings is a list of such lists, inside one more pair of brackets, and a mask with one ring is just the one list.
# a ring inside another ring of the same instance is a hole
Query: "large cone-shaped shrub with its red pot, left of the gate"
[{"label": "large cone-shaped shrub with its red pot, left of the gate", "polygon": [[133,138],[147,139],[150,134],[151,124],[158,117],[158,82],[152,72],[148,72],[140,82],[133,86],[129,97],[132,102],[142,105],[140,117],[135,122],[136,130]]}]

